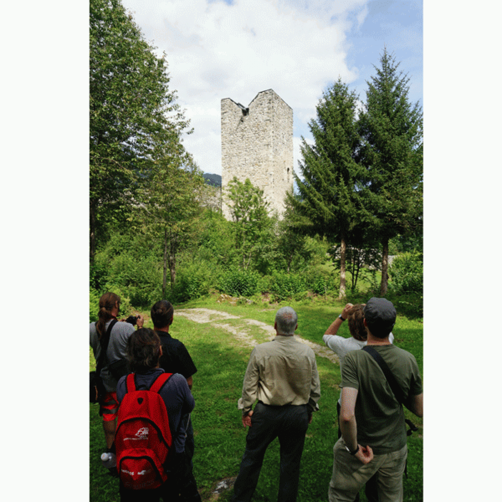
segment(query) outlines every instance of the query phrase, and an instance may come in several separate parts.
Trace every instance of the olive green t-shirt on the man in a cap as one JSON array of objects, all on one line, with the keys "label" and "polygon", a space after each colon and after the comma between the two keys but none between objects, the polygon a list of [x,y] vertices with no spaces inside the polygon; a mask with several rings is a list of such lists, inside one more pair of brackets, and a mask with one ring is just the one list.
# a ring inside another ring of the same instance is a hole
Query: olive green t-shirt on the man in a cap
[{"label": "olive green t-shirt on the man in a cap", "polygon": [[[405,396],[422,394],[422,380],[413,354],[396,345],[372,345],[389,366]],[[357,389],[357,442],[376,455],[398,451],[406,444],[404,411],[378,363],[364,350],[345,355],[340,387]]]}]

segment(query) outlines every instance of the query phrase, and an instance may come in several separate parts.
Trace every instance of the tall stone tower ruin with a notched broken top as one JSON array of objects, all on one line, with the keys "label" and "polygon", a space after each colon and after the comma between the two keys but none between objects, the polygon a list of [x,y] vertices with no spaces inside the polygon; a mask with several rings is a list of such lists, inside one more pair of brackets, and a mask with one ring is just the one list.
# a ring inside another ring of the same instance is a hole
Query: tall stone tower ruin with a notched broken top
[{"label": "tall stone tower ruin with a notched broken top", "polygon": [[293,110],[272,89],[259,92],[246,108],[221,100],[222,211],[225,187],[236,176],[264,191],[269,209],[284,212],[286,191],[293,187]]}]

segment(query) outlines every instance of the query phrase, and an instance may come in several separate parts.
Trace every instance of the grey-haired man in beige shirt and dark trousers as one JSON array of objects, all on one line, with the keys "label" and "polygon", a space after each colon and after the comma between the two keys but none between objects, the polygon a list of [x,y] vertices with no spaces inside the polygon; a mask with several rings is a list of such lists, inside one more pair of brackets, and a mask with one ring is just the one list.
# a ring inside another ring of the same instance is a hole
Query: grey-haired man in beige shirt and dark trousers
[{"label": "grey-haired man in beige shirt and dark trousers", "polygon": [[319,409],[321,387],[314,351],[294,337],[296,328],[296,312],[291,307],[279,309],[277,336],[257,345],[249,357],[237,405],[242,425],[249,430],[232,502],[251,499],[265,451],[275,438],[281,446],[278,502],[296,500],[305,433],[312,413]]}]

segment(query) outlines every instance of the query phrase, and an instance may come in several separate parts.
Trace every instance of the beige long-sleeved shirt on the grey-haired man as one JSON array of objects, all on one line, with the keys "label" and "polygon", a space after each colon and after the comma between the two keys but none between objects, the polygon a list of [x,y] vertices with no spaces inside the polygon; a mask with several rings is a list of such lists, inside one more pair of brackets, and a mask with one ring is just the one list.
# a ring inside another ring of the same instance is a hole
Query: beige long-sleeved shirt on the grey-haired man
[{"label": "beige long-sleeved shirt on the grey-haired man", "polygon": [[237,408],[248,412],[258,399],[266,405],[319,409],[321,384],[314,351],[294,336],[277,335],[257,345],[249,357]]}]

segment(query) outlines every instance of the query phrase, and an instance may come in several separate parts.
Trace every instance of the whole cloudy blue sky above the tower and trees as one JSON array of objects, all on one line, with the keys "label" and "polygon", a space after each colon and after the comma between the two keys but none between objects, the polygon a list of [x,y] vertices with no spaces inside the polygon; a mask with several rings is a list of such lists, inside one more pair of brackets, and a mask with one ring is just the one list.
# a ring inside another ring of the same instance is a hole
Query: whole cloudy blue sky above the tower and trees
[{"label": "whole cloudy blue sky above the tower and trees", "polygon": [[247,106],[274,89],[293,108],[294,167],[323,90],[340,76],[361,100],[384,47],[423,103],[422,2],[415,0],[122,0],[165,52],[171,89],[194,129],[202,171],[221,174],[220,101]]}]

